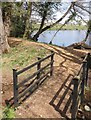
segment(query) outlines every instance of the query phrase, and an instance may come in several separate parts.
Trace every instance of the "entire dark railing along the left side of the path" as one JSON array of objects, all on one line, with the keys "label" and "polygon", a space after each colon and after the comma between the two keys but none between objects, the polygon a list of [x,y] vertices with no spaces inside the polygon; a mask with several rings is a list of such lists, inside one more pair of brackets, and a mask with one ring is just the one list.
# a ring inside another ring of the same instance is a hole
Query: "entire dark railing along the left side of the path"
[{"label": "entire dark railing along the left side of the path", "polygon": [[[45,65],[45,66],[41,66],[41,63],[44,62],[45,60],[50,58],[50,62]],[[48,74],[50,74],[50,76],[53,75],[53,62],[54,62],[54,52],[51,51],[51,54],[46,56],[45,58],[38,58],[38,61],[33,63],[32,65],[17,71],[16,69],[13,69],[13,89],[14,89],[14,107],[18,106],[18,101],[21,97],[25,96],[30,89],[32,89],[35,84],[38,85],[39,82],[44,79]],[[23,72],[31,69],[32,67],[36,66],[37,67],[37,71],[34,72],[31,76],[27,77],[25,80],[23,80],[22,82],[18,83],[18,75],[22,74]],[[50,67],[50,70],[47,71],[46,74],[44,74],[43,76],[40,75],[40,73],[43,72],[44,69]],[[27,83],[30,79],[32,78],[36,78],[37,80],[35,81],[34,84],[29,85],[26,89],[22,90],[21,93],[19,93],[19,88],[22,87],[25,83]]]}]

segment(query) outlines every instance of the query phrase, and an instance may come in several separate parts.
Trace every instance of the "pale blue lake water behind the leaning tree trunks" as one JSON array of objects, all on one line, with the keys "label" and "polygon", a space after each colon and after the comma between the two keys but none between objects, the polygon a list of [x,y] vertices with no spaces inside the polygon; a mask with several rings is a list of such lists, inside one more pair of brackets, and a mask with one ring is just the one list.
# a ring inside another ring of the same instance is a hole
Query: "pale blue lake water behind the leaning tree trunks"
[{"label": "pale blue lake water behind the leaning tree trunks", "polygon": [[[48,30],[42,33],[38,41],[50,43],[56,30]],[[86,36],[86,30],[60,30],[53,38],[52,44],[58,46],[69,46],[73,43],[81,42]]]}]

